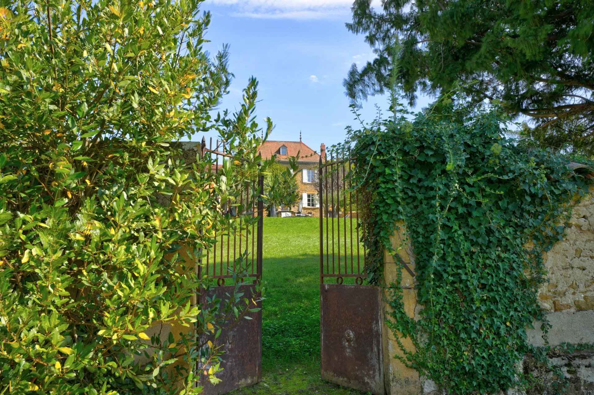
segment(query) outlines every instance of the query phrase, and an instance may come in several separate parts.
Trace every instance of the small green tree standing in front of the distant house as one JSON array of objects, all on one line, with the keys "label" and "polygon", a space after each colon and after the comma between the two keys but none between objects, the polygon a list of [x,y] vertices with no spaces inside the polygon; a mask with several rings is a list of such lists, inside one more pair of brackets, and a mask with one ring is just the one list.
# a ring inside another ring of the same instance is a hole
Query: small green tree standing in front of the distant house
[{"label": "small green tree standing in front of the distant house", "polygon": [[268,213],[278,206],[293,206],[299,200],[299,189],[295,176],[298,173],[296,158],[289,159],[289,167],[274,163],[268,167],[264,179],[264,195],[267,198]]}]

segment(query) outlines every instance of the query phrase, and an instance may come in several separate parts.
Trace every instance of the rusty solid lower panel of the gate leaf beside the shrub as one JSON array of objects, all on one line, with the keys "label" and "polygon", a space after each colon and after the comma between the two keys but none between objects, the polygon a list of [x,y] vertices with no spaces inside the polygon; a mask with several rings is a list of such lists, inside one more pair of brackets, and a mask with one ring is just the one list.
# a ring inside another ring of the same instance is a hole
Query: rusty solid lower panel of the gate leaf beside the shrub
[{"label": "rusty solid lower panel of the gate leaf beside the shrub", "polygon": [[[233,285],[217,286],[207,292],[207,299],[224,298],[226,292],[233,292]],[[248,299],[257,299],[254,294],[255,285],[241,286]],[[259,301],[257,307],[262,307]],[[251,320],[242,319],[235,326],[224,329],[219,339],[223,339],[225,354],[222,356],[222,374],[218,375],[222,382],[213,386],[204,375],[200,386],[207,395],[226,394],[237,388],[251,386],[262,381],[262,311],[246,314]],[[201,343],[214,340],[208,336]],[[219,343],[221,343],[219,341]]]}]

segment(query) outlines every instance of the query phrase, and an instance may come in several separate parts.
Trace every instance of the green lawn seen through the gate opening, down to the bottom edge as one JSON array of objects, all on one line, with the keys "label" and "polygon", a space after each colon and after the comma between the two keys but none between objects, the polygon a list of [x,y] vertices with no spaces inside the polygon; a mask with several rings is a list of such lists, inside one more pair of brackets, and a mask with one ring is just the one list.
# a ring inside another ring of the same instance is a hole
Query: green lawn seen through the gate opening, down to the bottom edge
[{"label": "green lawn seen through the gate opening, down to the bottom edge", "polygon": [[361,394],[320,378],[318,227],[318,218],[264,219],[264,381],[234,395]]}]

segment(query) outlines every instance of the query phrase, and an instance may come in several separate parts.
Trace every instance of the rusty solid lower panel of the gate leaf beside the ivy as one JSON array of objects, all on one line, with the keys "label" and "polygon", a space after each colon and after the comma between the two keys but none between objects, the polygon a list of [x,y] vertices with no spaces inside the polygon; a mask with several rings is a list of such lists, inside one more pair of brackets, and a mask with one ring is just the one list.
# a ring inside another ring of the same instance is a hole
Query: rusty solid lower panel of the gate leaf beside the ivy
[{"label": "rusty solid lower panel of the gate leaf beside the ivy", "polygon": [[379,288],[321,284],[320,295],[322,378],[383,394]]}]

